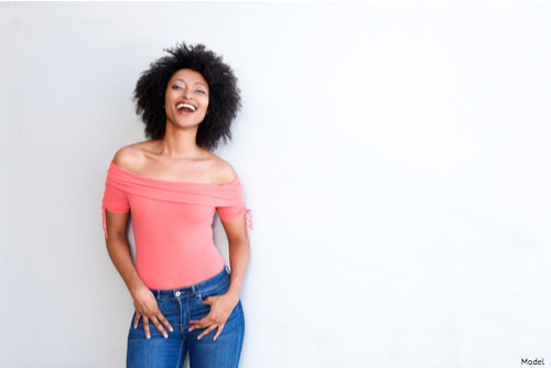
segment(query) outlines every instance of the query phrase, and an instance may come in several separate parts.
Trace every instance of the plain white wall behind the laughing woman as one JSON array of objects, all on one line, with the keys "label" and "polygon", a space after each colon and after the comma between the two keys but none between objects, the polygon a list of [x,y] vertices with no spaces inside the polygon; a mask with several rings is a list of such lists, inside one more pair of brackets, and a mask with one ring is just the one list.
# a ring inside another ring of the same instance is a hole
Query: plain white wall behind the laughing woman
[{"label": "plain white wall behind the laughing woman", "polygon": [[217,151],[253,210],[241,367],[551,362],[550,19],[544,2],[0,3],[0,366],[123,366],[132,303],[100,199],[143,139],[134,83],[179,41],[242,89]]}]

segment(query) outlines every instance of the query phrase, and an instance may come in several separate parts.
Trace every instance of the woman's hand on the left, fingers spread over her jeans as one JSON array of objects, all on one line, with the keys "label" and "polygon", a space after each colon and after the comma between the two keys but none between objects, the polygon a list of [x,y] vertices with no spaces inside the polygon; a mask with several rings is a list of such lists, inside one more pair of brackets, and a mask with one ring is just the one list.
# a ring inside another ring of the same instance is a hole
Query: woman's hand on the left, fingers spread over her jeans
[{"label": "woman's hand on the left, fingers spread over her jeans", "polygon": [[133,300],[136,307],[134,328],[138,328],[140,318],[143,318],[143,331],[145,332],[145,337],[151,338],[151,333],[149,331],[149,322],[151,321],[161,335],[163,335],[164,338],[169,338],[169,334],[164,331],[163,325],[170,332],[173,332],[173,328],[159,310],[159,304],[156,304],[156,299],[151,290],[148,288],[140,289],[133,295]]}]

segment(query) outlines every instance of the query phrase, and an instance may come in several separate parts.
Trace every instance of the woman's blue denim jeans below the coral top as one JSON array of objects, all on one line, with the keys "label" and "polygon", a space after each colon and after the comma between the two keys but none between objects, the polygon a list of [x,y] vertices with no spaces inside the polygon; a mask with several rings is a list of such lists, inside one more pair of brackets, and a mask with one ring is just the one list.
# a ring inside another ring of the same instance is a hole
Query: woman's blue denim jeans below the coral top
[{"label": "woman's blue denim jeans below the coral top", "polygon": [[245,318],[240,301],[226,321],[216,342],[213,337],[217,328],[199,340],[197,336],[203,329],[187,331],[191,326],[190,320],[201,320],[210,311],[210,306],[204,304],[203,300],[224,294],[228,285],[229,273],[225,269],[214,278],[188,288],[152,290],[159,309],[169,320],[174,332],[166,329],[169,338],[164,338],[150,322],[151,338],[148,339],[143,332],[142,320],[138,328],[133,328],[131,322],[128,334],[127,367],[182,368],[185,355],[190,351],[192,368],[237,368],[245,334]]}]

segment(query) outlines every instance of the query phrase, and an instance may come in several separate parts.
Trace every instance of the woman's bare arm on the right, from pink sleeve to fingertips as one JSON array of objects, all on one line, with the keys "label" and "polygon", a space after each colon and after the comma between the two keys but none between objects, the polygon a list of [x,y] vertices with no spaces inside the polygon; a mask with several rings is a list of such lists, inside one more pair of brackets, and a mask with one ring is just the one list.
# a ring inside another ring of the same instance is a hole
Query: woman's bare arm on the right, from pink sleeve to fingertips
[{"label": "woman's bare arm on the right, from pink sleeve to fingertips", "polygon": [[190,331],[205,328],[197,337],[198,339],[218,328],[214,336],[216,340],[222,334],[226,321],[239,302],[241,285],[249,262],[250,249],[245,217],[246,215],[235,221],[222,221],[229,245],[229,264],[231,268],[229,288],[225,294],[209,296],[203,301],[205,304],[210,305],[210,312],[206,317],[198,321],[190,321],[192,324]]}]

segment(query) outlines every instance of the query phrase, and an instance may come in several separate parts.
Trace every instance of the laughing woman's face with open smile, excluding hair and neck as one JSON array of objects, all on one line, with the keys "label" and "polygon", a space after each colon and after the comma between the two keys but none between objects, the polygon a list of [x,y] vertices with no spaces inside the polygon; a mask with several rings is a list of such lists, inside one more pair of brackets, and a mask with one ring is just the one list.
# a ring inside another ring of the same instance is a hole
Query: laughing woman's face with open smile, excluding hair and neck
[{"label": "laughing woman's face with open smile, excluding hair and neck", "polygon": [[196,127],[208,108],[208,84],[201,73],[180,69],[169,80],[164,94],[164,109],[169,123],[176,127]]}]

